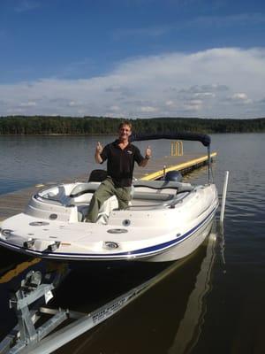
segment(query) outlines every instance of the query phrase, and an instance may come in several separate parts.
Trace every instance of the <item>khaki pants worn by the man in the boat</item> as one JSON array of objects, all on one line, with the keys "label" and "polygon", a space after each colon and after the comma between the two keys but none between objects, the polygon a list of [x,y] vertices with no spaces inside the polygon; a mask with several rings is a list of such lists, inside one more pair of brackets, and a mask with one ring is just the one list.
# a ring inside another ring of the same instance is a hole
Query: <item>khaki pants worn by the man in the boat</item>
[{"label": "khaki pants worn by the man in the boat", "polygon": [[87,212],[87,221],[95,222],[99,210],[105,200],[110,196],[117,196],[118,209],[125,209],[131,200],[131,187],[115,187],[110,177],[102,181],[98,189],[96,189]]}]

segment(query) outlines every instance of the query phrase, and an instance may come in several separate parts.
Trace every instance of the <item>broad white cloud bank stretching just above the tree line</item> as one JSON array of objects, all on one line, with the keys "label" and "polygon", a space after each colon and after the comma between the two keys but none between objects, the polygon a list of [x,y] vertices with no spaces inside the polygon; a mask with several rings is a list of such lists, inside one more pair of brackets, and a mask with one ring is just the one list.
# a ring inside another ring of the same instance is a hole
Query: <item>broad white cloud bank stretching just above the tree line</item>
[{"label": "broad white cloud bank stretching just above the tree line", "polygon": [[0,84],[0,115],[19,107],[20,114],[253,118],[264,116],[264,92],[265,49],[177,52],[128,59],[91,79]]}]

